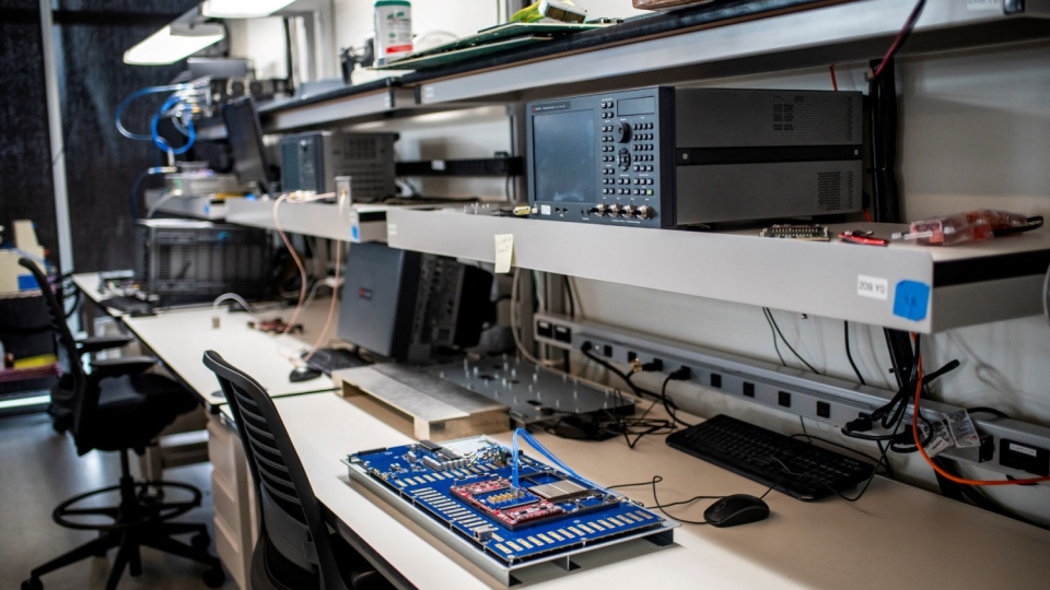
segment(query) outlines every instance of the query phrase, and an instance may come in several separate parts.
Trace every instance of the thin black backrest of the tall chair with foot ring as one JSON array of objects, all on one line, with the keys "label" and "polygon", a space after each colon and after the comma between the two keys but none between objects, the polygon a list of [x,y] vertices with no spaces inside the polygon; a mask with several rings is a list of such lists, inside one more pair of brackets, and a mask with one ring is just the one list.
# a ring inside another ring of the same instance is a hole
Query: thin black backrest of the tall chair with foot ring
[{"label": "thin black backrest of the tall chair with foot ring", "polygon": [[[52,287],[47,276],[40,272],[36,262],[28,258],[20,258],[19,264],[27,269],[36,284],[40,287],[44,296],[44,303],[47,305],[47,314],[50,317],[51,330],[55,333],[55,341],[58,343],[59,364],[62,367],[62,377],[59,380],[59,388],[66,396],[59,397],[52,394],[52,403],[58,403],[72,412],[73,423],[71,430],[77,437],[83,433],[83,426],[90,421],[90,414],[94,410],[84,403],[88,389],[88,375],[80,363],[80,351],[77,350],[77,341],[72,332],[69,331],[69,324],[66,323],[66,309],[60,303],[61,291]],[[58,290],[58,295],[56,291]],[[79,442],[78,442],[79,445]]]}]

